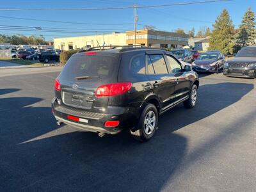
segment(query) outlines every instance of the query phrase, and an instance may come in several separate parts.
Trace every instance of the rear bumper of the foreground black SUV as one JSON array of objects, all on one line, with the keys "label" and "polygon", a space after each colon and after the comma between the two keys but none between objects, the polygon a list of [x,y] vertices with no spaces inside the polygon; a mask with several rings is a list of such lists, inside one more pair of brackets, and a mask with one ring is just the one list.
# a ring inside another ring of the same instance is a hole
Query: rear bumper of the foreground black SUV
[{"label": "rear bumper of the foreground black SUV", "polygon": [[[64,124],[91,132],[104,132],[108,134],[117,134],[124,129],[132,129],[138,122],[138,108],[127,107],[109,107],[114,113],[92,113],[82,109],[71,108],[64,104],[58,104],[56,97],[52,99],[52,112],[56,120]],[[70,120],[68,115],[81,118],[81,121]],[[118,120],[120,124],[117,127],[105,127],[106,121]]]}]

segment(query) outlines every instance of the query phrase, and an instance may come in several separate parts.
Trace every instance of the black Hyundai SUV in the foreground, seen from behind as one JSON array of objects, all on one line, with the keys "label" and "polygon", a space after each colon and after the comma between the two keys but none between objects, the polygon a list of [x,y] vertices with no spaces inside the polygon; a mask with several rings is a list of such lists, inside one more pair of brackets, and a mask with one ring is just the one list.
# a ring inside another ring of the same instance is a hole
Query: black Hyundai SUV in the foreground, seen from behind
[{"label": "black Hyundai SUV in the foreground, seen from behind", "polygon": [[150,47],[97,47],[79,51],[55,80],[52,113],[57,124],[152,138],[158,116],[180,102],[196,104],[199,80],[170,52]]}]

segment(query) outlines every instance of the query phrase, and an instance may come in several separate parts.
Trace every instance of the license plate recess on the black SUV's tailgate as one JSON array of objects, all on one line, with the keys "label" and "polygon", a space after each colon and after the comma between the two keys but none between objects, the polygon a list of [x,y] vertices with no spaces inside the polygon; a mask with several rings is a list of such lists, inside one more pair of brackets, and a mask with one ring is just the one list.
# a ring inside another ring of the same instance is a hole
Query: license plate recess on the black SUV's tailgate
[{"label": "license plate recess on the black SUV's tailgate", "polygon": [[74,93],[74,92],[61,92],[63,103],[67,106],[90,109],[92,108],[92,103],[88,101],[90,95],[83,93]]}]

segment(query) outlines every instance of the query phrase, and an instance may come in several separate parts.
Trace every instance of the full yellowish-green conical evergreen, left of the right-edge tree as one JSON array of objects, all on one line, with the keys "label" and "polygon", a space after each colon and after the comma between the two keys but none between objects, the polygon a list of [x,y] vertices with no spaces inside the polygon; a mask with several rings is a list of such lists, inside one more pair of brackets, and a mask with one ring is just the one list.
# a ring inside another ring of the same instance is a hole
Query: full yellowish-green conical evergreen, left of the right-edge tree
[{"label": "full yellowish-green conical evergreen, left of the right-edge tree", "polygon": [[212,25],[212,35],[209,40],[209,50],[218,49],[221,52],[233,54],[234,25],[228,11],[224,9]]}]

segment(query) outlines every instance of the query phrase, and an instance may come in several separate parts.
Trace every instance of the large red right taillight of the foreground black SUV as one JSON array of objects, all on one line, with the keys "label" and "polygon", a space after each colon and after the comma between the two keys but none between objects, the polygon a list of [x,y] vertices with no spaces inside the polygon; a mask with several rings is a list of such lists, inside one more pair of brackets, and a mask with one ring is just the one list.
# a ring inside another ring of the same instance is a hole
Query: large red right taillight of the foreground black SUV
[{"label": "large red right taillight of the foreground black SUV", "polygon": [[95,96],[108,97],[108,96],[122,95],[126,92],[129,92],[131,88],[132,88],[131,82],[104,84],[97,88]]}]

